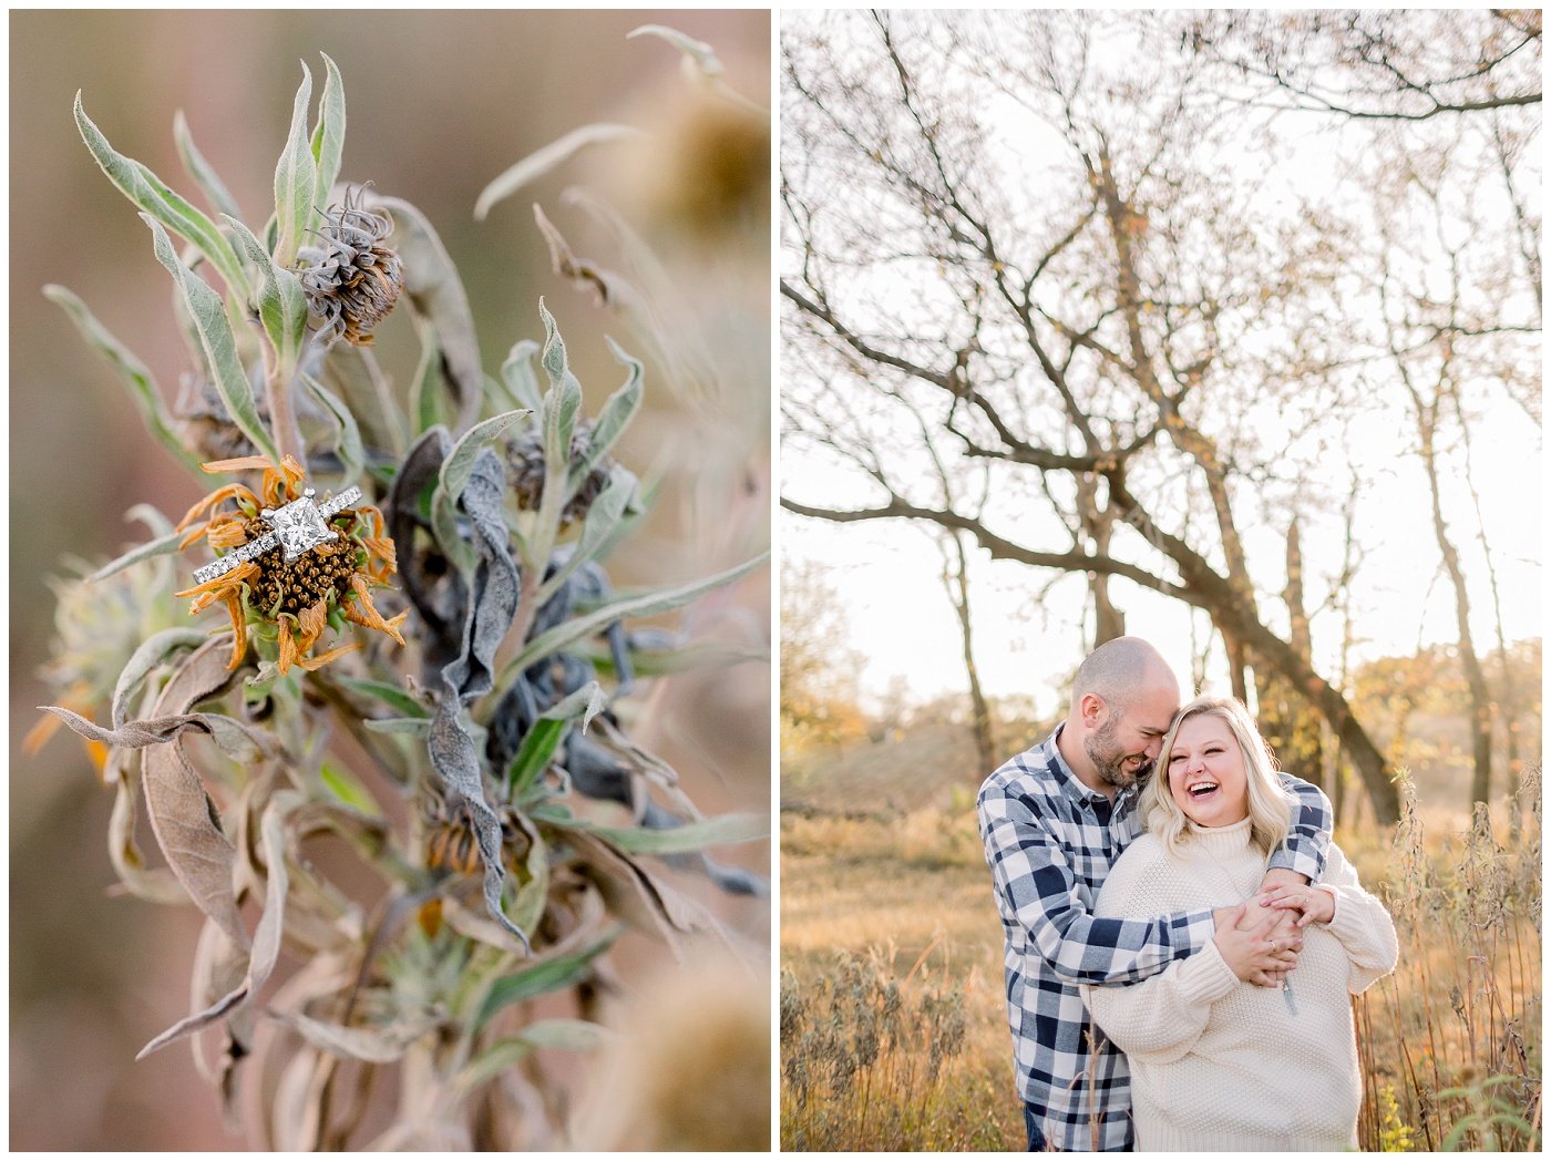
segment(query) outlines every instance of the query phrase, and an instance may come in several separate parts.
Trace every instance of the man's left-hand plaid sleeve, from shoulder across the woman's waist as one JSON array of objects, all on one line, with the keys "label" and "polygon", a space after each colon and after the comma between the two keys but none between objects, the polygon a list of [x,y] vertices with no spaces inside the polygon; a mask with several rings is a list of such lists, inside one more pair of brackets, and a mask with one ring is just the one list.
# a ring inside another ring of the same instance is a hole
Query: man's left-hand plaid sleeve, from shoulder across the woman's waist
[{"label": "man's left-hand plaid sleeve, from shoulder across the woman's waist", "polygon": [[1211,911],[1100,919],[1089,911],[1067,849],[1052,822],[1007,786],[986,781],[980,839],[997,907],[1019,924],[1050,970],[1070,983],[1120,983],[1162,972],[1211,942]]}]

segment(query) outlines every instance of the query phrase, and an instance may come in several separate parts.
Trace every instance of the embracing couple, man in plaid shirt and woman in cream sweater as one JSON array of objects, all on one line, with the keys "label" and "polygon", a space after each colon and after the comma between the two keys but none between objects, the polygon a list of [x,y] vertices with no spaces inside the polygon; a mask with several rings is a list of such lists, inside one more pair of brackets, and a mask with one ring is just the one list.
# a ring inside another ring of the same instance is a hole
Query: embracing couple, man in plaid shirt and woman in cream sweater
[{"label": "embracing couple, man in plaid shirt and woman in cream sweater", "polygon": [[1348,995],[1394,967],[1383,905],[1242,704],[1137,637],[980,789],[1030,1150],[1343,1150]]}]

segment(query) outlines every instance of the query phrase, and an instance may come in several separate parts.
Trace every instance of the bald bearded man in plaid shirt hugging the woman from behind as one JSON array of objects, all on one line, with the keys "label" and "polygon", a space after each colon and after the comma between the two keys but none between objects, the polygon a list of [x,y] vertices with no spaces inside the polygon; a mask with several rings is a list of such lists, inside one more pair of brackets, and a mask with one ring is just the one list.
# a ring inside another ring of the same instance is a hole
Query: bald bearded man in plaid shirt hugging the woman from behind
[{"label": "bald bearded man in plaid shirt hugging the woman from behind", "polygon": [[[1303,944],[1297,913],[1276,922],[1259,907],[1249,921],[1245,905],[1151,921],[1093,918],[1109,868],[1140,831],[1137,791],[1179,705],[1179,679],[1162,654],[1140,637],[1117,637],[1078,668],[1066,721],[980,787],[1031,1152],[1132,1149],[1131,1073],[1124,1056],[1093,1035],[1078,984],[1135,983],[1216,942],[1235,975],[1275,987]],[[1325,795],[1281,777],[1295,798],[1292,832],[1263,893],[1317,879],[1331,840]]]}]

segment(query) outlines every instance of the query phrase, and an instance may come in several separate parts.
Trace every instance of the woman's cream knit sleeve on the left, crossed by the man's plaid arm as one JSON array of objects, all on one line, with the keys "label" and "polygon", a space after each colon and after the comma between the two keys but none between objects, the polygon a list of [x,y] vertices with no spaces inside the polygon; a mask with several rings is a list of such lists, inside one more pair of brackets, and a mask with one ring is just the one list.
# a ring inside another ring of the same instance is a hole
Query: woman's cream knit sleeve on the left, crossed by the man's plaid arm
[{"label": "woman's cream knit sleeve on the left, crossed by the man's plaid arm", "polygon": [[[1160,868],[1162,853],[1138,842],[1115,863],[1095,913],[1126,915],[1148,905],[1145,884]],[[1238,984],[1233,969],[1208,942],[1188,959],[1169,964],[1140,983],[1093,987],[1084,984],[1083,1003],[1093,1023],[1129,1057],[1168,1063],[1185,1056],[1207,1028],[1211,1004]]]}]

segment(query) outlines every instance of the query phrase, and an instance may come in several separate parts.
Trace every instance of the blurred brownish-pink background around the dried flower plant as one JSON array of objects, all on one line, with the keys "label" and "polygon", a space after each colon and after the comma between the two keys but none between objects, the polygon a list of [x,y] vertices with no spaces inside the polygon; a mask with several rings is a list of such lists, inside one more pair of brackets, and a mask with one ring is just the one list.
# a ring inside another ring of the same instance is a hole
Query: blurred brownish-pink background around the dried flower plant
[{"label": "blurred brownish-pink background around the dried flower plant", "polygon": [[[186,369],[166,273],[144,225],[81,144],[70,118],[76,90],[116,149],[192,194],[171,132],[181,110],[247,219],[262,222],[296,60],[316,70],[316,54],[327,53],[349,93],[343,177],[414,202],[436,225],[468,291],[487,370],[515,339],[541,338],[541,295],[586,391],[583,414],[596,414],[620,378],[605,333],[645,358],[644,411],[616,456],[661,479],[661,491],[610,574],[617,587],[658,586],[723,570],[768,541],[769,174],[768,121],[729,113],[738,102],[687,76],[675,45],[627,39],[642,25],[713,45],[726,87],[765,104],[765,12],[12,14],[12,1149],[236,1144],[186,1051],[133,1063],[152,1032],[189,1011],[199,913],[110,897],[112,795],[65,732],[39,755],[20,750],[34,707],[54,701],[37,674],[60,558],[101,563],[146,538],[124,522],[132,504],[175,515],[209,487],[146,434],[113,374],[40,295],[47,282],[67,284],[164,388]],[[512,163],[594,122],[644,132],[579,150],[475,220],[481,192]],[[552,223],[548,239],[535,202]],[[568,257],[568,273],[557,273]],[[648,291],[653,322],[682,339],[672,355],[641,338],[608,268]],[[400,315],[377,332],[378,358],[394,375],[409,374],[417,355]],[[701,601],[682,628],[729,651],[763,643],[762,575]],[[126,600],[158,617],[163,597],[147,589]],[[99,634],[84,645],[112,646]],[[631,722],[633,736],[675,766],[701,811],[766,806],[766,665],[679,674],[645,698],[650,713]],[[718,854],[760,871],[769,862],[766,845]],[[686,880],[686,890],[763,952],[763,904],[721,899],[701,882]],[[642,972],[659,961],[665,952],[636,935],[616,952],[616,963]],[[724,980],[696,984],[687,969],[656,970],[664,987],[727,989]],[[754,1011],[768,1008],[763,986],[732,990]],[[624,992],[627,1003],[634,994]],[[577,1076],[583,1104],[597,1099],[586,1079]],[[682,1142],[681,1128],[664,1125]],[[627,1145],[630,1132],[594,1144]]]}]

